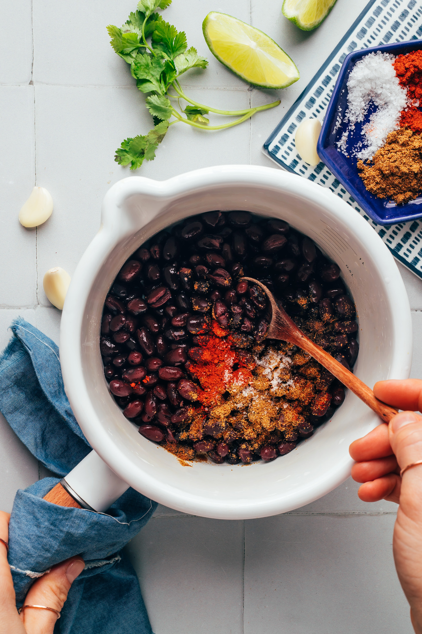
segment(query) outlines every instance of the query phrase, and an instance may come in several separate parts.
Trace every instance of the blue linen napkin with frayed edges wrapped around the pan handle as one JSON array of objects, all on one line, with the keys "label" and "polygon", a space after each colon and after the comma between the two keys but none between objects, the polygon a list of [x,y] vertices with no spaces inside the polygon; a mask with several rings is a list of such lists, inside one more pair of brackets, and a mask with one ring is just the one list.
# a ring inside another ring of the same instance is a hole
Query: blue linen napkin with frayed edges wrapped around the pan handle
[{"label": "blue linen napkin with frayed edges wrapped around the pan handle", "polygon": [[20,607],[35,579],[68,557],[85,570],[73,582],[56,622],[60,634],[152,634],[139,581],[120,552],[157,503],[128,489],[107,511],[56,506],[43,496],[90,451],[70,408],[54,342],[22,318],[0,356],[0,411],[28,450],[58,478],[16,493],[8,560]]}]

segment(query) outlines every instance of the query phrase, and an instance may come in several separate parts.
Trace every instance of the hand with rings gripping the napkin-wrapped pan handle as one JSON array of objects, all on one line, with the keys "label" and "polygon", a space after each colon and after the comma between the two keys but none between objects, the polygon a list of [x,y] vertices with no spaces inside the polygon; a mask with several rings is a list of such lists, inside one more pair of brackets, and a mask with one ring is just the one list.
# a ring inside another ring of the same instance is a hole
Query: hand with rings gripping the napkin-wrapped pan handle
[{"label": "hand with rings gripping the napkin-wrapped pan handle", "polygon": [[[8,541],[8,513],[0,511],[0,539]],[[71,557],[53,566],[37,579],[25,597],[24,605],[47,605],[58,612],[65,604],[70,586],[84,569],[81,557]],[[53,634],[56,612],[27,608],[18,614],[15,590],[7,559],[6,546],[0,541],[0,615],[1,634]]]}]

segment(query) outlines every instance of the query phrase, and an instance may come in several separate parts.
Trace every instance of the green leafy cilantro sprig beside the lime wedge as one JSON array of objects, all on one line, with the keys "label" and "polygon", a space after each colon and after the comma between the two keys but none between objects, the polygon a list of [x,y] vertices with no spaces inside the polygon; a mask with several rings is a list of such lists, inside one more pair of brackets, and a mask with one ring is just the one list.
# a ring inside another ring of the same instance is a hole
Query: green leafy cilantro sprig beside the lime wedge
[{"label": "green leafy cilantro sprig beside the lime wedge", "polygon": [[[159,143],[175,123],[182,122],[208,131],[221,130],[237,126],[259,110],[267,110],[280,103],[274,101],[245,110],[216,110],[187,97],[178,81],[180,75],[190,68],[206,68],[208,61],[198,55],[193,46],[188,49],[185,33],[165,22],[157,13],[169,4],[171,0],[140,0],[137,10],[130,13],[121,29],[113,25],[107,27],[111,46],[117,55],[130,64],[137,88],[146,94],[145,105],[154,122],[148,134],[125,139],[116,150],[116,162],[130,165],[130,169],[137,169],[144,160],[155,159]],[[189,104],[183,110],[180,100]],[[210,126],[208,117],[204,116],[209,112],[239,119],[220,126]]]}]

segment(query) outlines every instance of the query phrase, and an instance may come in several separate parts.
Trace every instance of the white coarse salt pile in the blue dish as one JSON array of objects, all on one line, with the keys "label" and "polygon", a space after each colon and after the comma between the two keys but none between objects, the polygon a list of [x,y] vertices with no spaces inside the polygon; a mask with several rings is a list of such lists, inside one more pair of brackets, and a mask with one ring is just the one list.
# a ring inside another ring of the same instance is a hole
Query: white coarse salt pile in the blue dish
[{"label": "white coarse salt pile in the blue dish", "polygon": [[385,144],[387,135],[399,129],[400,113],[407,105],[407,91],[399,84],[394,60],[394,55],[378,51],[365,55],[354,65],[347,81],[348,108],[344,117],[349,126],[337,141],[338,149],[345,155],[347,139],[352,136],[355,124],[364,120],[370,103],[377,109],[363,126],[363,143],[357,141],[352,150],[354,156],[362,160],[371,159],[376,150]]}]

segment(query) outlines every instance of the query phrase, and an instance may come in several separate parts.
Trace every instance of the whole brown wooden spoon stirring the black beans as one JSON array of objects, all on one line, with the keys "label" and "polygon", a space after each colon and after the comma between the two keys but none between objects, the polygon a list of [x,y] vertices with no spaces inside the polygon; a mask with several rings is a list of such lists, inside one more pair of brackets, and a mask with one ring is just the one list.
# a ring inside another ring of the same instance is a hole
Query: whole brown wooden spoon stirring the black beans
[{"label": "whole brown wooden spoon stirring the black beans", "polygon": [[275,297],[264,284],[258,280],[254,280],[254,278],[244,277],[242,280],[251,281],[261,287],[270,300],[270,325],[267,331],[267,339],[281,339],[282,341],[289,342],[289,344],[299,346],[302,350],[316,359],[318,363],[321,363],[328,372],[331,372],[336,378],[338,378],[343,385],[356,394],[356,396],[366,403],[371,410],[375,411],[375,413],[378,414],[385,423],[390,422],[392,417],[398,413],[397,410],[390,407],[390,405],[382,403],[382,401],[378,401],[368,385],[365,385],[360,378],[357,378],[352,372],[350,372],[350,370],[347,370],[344,365],[334,359],[331,354],[328,354],[320,346],[314,344],[311,339],[308,339],[308,337],[302,333],[302,330],[297,327],[294,321],[290,319],[283,307],[276,302]]}]

